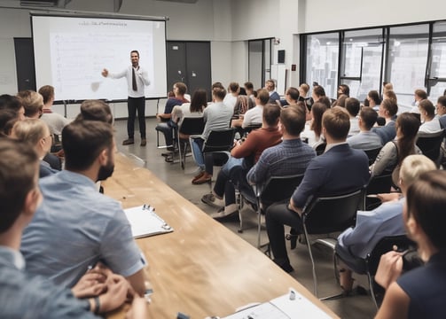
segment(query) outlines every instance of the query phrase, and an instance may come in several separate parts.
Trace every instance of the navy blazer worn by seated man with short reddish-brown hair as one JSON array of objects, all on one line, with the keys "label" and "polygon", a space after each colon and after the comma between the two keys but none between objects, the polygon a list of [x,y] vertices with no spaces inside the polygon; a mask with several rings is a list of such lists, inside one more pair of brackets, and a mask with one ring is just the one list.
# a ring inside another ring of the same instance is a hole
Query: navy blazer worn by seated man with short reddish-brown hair
[{"label": "navy blazer worn by seated man with short reddish-brown hair", "polygon": [[303,208],[309,198],[347,194],[363,188],[370,178],[364,151],[348,144],[335,145],[309,162],[301,185],[293,193],[294,206]]}]

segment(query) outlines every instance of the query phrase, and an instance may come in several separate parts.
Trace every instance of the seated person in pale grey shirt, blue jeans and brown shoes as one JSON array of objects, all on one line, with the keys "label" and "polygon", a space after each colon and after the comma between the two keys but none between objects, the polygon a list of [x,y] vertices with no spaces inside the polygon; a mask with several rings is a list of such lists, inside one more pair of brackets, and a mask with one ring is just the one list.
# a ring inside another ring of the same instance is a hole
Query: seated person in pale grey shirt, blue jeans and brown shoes
[{"label": "seated person in pale grey shirt, blue jeans and brown shoes", "polygon": [[226,90],[223,88],[212,89],[213,103],[207,105],[203,112],[203,118],[206,121],[203,133],[200,136],[191,136],[192,156],[200,170],[200,173],[192,179],[193,184],[207,183],[212,178],[214,159],[212,156],[208,156],[207,163],[205,163],[205,157],[201,150],[212,130],[229,128],[234,110],[231,106],[223,103],[225,95]]}]

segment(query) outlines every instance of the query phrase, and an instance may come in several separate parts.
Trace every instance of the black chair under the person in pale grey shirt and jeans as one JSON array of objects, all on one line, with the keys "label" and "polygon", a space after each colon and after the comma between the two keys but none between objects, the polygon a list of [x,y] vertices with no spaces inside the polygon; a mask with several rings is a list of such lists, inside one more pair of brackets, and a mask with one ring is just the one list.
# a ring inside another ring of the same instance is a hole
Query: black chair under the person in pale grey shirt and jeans
[{"label": "black chair under the person in pale grey shirt and jeans", "polygon": [[[206,157],[211,153],[214,158],[214,166],[223,166],[229,159],[229,152],[234,145],[234,135],[234,128],[212,130],[201,149],[203,156]],[[212,179],[209,181],[209,187],[212,192]]]}]

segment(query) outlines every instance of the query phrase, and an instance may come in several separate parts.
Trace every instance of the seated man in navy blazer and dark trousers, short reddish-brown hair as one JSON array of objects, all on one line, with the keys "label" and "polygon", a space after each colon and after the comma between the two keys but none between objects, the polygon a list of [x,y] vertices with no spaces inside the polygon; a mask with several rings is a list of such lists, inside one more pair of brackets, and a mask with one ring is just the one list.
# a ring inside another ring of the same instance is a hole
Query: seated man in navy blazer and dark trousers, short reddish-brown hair
[{"label": "seated man in navy blazer and dark trousers, short reddish-brown hair", "polygon": [[286,272],[293,271],[285,245],[284,225],[302,233],[301,212],[309,198],[335,196],[360,190],[370,178],[369,159],[346,143],[350,121],[339,106],[327,110],[322,120],[327,141],[325,153],[309,162],[301,185],[288,204],[275,204],[266,211],[266,230],[274,261]]}]

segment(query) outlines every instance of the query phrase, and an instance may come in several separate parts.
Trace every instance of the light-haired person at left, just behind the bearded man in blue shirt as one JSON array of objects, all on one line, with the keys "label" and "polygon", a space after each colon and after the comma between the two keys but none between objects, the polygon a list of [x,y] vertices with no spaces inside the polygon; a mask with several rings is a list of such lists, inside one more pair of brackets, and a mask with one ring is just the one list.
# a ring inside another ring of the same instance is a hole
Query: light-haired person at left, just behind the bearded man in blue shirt
[{"label": "light-haired person at left, just behind the bearded man in blue shirt", "polygon": [[26,142],[35,149],[40,159],[39,177],[46,177],[57,173],[50,164],[43,160],[45,155],[50,152],[52,144],[52,135],[48,125],[40,119],[25,119],[17,121],[12,127],[13,138]]}]

